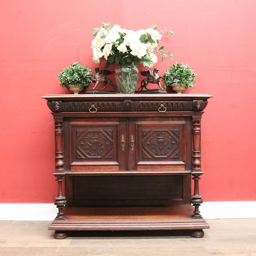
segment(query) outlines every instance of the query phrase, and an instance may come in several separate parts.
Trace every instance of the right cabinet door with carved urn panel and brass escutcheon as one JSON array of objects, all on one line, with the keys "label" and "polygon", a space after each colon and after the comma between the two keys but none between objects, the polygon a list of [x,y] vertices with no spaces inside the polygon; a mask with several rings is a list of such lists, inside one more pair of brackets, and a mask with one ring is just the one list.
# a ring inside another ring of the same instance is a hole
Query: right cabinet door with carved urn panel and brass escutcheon
[{"label": "right cabinet door with carved urn panel and brass escutcheon", "polygon": [[129,170],[190,170],[191,124],[186,118],[132,118],[129,121]]}]

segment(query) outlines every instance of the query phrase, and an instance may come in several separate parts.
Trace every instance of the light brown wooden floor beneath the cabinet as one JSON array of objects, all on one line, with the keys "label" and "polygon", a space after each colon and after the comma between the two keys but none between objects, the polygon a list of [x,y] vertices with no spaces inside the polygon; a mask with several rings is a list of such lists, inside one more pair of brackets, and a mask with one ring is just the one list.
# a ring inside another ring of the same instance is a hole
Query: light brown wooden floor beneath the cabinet
[{"label": "light brown wooden floor beneath the cabinet", "polygon": [[256,256],[256,219],[206,221],[203,238],[184,231],[83,231],[61,240],[47,230],[50,221],[0,221],[0,255]]}]

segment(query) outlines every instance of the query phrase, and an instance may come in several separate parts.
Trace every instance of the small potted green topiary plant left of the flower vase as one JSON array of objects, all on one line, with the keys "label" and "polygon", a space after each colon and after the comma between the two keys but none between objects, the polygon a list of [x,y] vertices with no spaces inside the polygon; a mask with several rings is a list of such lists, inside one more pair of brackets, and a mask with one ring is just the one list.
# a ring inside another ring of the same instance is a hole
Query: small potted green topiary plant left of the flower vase
[{"label": "small potted green topiary plant left of the flower vase", "polygon": [[74,62],[57,76],[60,80],[60,86],[78,94],[91,83],[92,71],[84,65],[80,65],[80,62]]}]

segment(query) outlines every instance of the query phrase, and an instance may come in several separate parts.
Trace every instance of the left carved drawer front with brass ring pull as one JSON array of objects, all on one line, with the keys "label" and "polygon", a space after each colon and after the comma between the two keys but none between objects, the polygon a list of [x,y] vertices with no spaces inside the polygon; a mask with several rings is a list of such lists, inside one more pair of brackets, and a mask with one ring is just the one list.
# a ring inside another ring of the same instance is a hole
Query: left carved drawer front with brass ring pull
[{"label": "left carved drawer front with brass ring pull", "polygon": [[62,102],[63,112],[122,112],[123,101],[73,101]]}]

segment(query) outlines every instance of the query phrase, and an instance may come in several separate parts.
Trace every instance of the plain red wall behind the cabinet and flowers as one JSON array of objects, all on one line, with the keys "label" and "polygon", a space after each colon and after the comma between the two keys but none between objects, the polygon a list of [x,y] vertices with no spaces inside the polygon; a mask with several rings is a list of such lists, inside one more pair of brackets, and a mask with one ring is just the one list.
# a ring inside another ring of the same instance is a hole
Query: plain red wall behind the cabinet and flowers
[{"label": "plain red wall behind the cabinet and flowers", "polygon": [[[127,3],[1,3],[1,203],[49,203],[57,196],[54,122],[40,97],[69,93],[56,73],[71,63],[97,66],[90,46],[102,22],[175,32],[161,42],[174,54],[172,63],[194,67],[193,93],[214,95],[201,125],[200,192],[205,201],[256,200],[255,1]],[[170,61],[158,59],[162,74]]]}]

